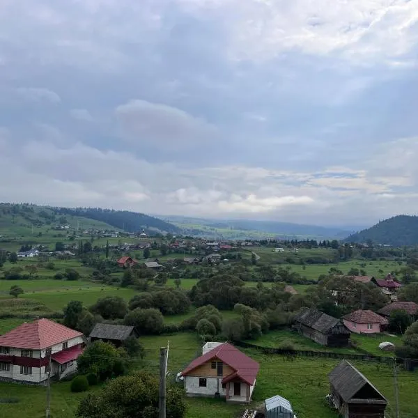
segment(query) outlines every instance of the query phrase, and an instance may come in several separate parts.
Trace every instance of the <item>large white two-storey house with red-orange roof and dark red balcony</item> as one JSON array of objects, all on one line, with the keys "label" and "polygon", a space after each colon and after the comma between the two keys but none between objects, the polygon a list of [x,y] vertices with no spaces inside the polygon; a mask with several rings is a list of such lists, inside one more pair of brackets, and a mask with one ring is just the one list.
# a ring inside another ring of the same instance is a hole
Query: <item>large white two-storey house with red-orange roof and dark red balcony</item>
[{"label": "large white two-storey house with red-orange roof and dark red balcony", "polygon": [[[49,319],[24,323],[0,336],[0,380],[42,384],[77,370],[84,335]],[[49,358],[50,357],[50,358]]]}]

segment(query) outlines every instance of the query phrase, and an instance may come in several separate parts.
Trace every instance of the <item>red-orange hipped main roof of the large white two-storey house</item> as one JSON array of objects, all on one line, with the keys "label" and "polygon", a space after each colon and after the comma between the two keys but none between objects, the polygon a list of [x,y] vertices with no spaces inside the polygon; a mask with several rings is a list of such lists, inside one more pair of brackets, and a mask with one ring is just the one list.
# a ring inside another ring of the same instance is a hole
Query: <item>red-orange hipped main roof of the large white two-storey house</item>
[{"label": "red-orange hipped main roof of the large white two-storey house", "polygon": [[82,332],[41,318],[33,323],[24,323],[0,336],[0,346],[42,350],[82,335]]}]

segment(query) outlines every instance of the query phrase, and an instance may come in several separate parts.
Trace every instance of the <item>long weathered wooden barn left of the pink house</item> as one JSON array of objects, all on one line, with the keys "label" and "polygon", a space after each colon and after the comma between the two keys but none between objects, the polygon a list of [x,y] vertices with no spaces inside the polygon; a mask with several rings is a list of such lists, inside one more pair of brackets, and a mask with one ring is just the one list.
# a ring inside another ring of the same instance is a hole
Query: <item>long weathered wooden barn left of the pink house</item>
[{"label": "long weathered wooden barn left of the pink house", "polygon": [[350,330],[341,320],[316,309],[303,307],[295,316],[295,329],[318,344],[329,347],[346,347]]}]

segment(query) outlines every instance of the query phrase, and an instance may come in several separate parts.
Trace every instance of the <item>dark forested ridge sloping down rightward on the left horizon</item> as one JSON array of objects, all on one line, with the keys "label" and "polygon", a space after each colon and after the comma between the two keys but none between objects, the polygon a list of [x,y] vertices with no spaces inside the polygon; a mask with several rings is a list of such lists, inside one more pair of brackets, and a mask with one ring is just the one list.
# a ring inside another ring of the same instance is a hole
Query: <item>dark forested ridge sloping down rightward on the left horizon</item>
[{"label": "dark forested ridge sloping down rightward on the left horizon", "polygon": [[127,232],[141,229],[155,230],[167,233],[179,233],[180,229],[169,222],[144,213],[130,212],[128,210],[111,210],[101,208],[56,208],[62,215],[81,216],[95,221],[106,222],[118,229]]}]

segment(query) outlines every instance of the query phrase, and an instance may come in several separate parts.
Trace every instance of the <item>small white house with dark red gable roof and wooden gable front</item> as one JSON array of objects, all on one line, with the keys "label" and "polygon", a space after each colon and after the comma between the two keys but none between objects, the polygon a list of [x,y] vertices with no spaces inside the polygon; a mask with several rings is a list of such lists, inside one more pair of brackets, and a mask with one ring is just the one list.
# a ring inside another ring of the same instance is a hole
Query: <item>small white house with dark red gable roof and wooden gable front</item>
[{"label": "small white house with dark red gable roof and wooden gable front", "polygon": [[187,396],[221,396],[247,403],[260,365],[229,343],[206,343],[202,355],[182,372]]}]

